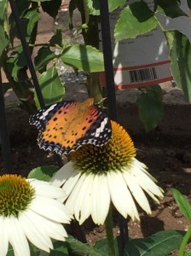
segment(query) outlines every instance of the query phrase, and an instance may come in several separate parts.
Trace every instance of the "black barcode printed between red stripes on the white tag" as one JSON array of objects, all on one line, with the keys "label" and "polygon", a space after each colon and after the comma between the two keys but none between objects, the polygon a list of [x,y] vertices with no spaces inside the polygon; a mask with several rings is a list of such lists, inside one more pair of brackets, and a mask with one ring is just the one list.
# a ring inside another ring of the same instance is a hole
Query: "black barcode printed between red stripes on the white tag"
[{"label": "black barcode printed between red stripes on the white tag", "polygon": [[156,70],[154,67],[130,70],[130,83],[140,83],[157,79]]}]

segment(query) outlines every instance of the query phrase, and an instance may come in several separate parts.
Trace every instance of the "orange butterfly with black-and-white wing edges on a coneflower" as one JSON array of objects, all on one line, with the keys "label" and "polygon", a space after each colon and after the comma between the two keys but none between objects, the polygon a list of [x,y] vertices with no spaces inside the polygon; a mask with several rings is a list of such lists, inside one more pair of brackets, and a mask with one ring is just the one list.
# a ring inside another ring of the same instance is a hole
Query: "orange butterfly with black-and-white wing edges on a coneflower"
[{"label": "orange butterfly with black-and-white wing edges on a coneflower", "polygon": [[38,128],[39,148],[69,154],[83,144],[106,144],[112,134],[110,120],[93,102],[57,102],[32,114],[29,123]]}]

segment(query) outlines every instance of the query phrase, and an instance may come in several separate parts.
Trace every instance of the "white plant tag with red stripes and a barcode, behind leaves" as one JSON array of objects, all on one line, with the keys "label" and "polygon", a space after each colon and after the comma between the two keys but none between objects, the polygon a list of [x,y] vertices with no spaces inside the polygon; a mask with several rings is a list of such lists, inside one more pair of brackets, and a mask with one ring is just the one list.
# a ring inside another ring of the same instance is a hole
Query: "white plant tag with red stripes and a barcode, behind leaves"
[{"label": "white plant tag with red stripes and a barcode, behind leaves", "polygon": [[[131,0],[136,2],[135,0]],[[145,1],[152,9],[153,1]],[[189,14],[185,0],[182,9]],[[119,19],[120,10],[110,14],[110,28],[113,45],[114,82],[117,89],[143,87],[159,84],[172,79],[169,60],[169,49],[164,33],[157,26],[153,31],[140,35],[135,39],[124,39],[114,44],[114,26]],[[159,15],[159,20],[166,29],[174,28],[191,38],[190,18],[176,19]],[[101,74],[101,83],[105,85],[104,75]]]}]

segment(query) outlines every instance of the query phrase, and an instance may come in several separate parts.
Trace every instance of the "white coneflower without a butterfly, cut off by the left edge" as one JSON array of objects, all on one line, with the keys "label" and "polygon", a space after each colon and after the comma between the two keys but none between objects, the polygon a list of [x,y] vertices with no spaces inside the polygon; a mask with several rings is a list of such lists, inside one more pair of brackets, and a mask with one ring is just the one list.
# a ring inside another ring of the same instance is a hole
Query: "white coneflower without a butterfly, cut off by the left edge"
[{"label": "white coneflower without a butterfly, cut off by the left edge", "polygon": [[50,238],[64,241],[67,232],[62,223],[69,223],[71,213],[58,200],[65,197],[62,189],[36,179],[16,175],[0,177],[0,255],[30,255],[28,241],[49,252]]}]

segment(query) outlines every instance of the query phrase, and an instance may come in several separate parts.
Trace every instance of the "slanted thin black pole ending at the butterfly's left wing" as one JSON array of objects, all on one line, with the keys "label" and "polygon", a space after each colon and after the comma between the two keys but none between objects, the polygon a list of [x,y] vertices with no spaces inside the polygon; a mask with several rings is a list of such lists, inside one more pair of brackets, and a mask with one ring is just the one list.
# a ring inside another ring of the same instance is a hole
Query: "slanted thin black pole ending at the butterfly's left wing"
[{"label": "slanted thin black pole ending at the butterfly's left wing", "polygon": [[14,20],[15,20],[15,23],[16,23],[16,27],[17,27],[19,35],[20,35],[20,41],[21,41],[23,50],[24,50],[25,55],[26,55],[26,61],[27,61],[27,64],[28,64],[28,68],[29,68],[30,73],[32,75],[32,81],[33,81],[35,90],[36,90],[37,95],[38,95],[38,101],[40,103],[40,107],[44,108],[45,104],[43,102],[42,91],[40,90],[40,86],[38,84],[38,77],[37,77],[37,74],[35,72],[34,65],[32,63],[31,53],[30,53],[28,44],[26,43],[26,38],[23,34],[23,29],[22,29],[22,24],[20,22],[20,16],[19,16],[19,13],[18,13],[18,9],[17,9],[16,3],[14,2],[14,0],[9,0],[9,3],[10,3],[11,10],[12,10],[12,14],[14,15]]}]

